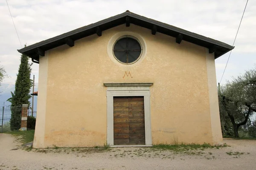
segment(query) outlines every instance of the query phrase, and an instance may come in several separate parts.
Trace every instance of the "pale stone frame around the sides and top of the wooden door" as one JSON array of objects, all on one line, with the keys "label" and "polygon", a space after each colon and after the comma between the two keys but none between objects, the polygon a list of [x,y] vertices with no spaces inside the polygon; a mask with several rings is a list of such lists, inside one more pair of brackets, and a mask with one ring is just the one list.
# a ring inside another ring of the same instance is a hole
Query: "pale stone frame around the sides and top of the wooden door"
[{"label": "pale stone frame around the sides and top of the wooden door", "polygon": [[152,145],[151,112],[149,86],[108,86],[107,88],[107,143],[114,145],[113,132],[113,97],[114,96],[144,96],[145,113],[145,145]]}]

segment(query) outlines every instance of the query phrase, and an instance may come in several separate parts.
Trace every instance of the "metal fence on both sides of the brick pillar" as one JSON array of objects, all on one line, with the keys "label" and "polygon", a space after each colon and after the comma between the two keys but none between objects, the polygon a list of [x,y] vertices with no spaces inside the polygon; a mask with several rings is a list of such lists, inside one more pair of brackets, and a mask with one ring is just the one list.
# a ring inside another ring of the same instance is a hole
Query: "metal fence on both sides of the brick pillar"
[{"label": "metal fence on both sides of the brick pillar", "polygon": [[[22,106],[0,107],[0,133],[19,130]],[[27,129],[35,129],[36,111],[28,110]]]}]

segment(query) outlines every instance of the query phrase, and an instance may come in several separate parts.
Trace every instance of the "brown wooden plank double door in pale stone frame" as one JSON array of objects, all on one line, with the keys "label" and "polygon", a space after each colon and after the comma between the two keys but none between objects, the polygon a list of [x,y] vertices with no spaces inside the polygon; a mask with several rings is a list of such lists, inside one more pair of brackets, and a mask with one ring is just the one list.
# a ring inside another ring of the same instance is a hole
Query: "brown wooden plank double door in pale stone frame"
[{"label": "brown wooden plank double door in pale stone frame", "polygon": [[144,97],[113,97],[114,145],[145,144]]}]

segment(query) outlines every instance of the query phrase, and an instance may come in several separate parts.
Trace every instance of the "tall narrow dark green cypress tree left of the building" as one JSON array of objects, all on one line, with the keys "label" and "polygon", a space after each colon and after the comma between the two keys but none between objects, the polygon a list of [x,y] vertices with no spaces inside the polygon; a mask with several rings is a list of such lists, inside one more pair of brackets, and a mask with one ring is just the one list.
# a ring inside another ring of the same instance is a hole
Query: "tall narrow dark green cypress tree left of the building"
[{"label": "tall narrow dark green cypress tree left of the building", "polygon": [[22,54],[20,57],[20,66],[15,82],[15,91],[11,92],[12,97],[8,99],[12,103],[12,114],[10,120],[11,130],[20,129],[21,109],[17,111],[17,106],[22,104],[30,105],[30,88],[32,87],[32,79],[30,79],[31,65],[29,57]]}]

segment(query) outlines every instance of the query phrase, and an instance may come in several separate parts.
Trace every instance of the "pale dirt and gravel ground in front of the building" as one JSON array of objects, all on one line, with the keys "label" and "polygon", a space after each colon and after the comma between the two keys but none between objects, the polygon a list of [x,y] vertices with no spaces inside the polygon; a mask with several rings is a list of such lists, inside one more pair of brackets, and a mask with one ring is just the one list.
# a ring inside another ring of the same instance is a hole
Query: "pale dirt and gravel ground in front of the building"
[{"label": "pale dirt and gravel ground in front of the building", "polygon": [[23,149],[11,135],[0,134],[0,170],[255,170],[256,140],[225,139],[230,147],[173,153],[152,148]]}]

